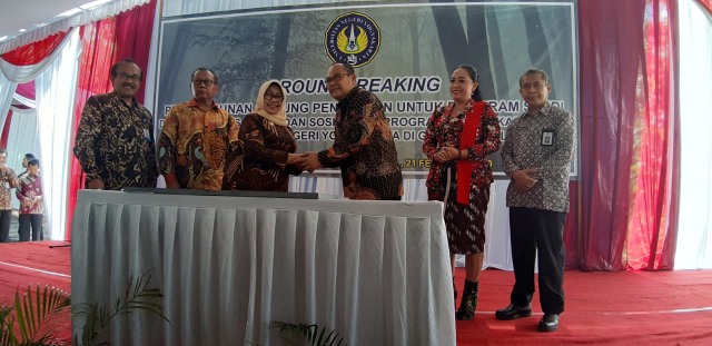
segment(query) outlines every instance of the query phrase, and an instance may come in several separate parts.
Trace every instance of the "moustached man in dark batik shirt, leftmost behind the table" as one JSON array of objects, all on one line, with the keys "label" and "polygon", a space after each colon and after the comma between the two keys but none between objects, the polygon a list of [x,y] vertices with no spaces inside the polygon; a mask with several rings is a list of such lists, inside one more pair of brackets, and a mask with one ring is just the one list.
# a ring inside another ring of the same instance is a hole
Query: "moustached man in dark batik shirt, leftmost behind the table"
[{"label": "moustached man in dark batik shirt, leftmost behind the table", "polygon": [[75,156],[88,189],[156,187],[154,117],[136,100],[141,69],[131,59],[111,67],[113,91],[87,100],[75,138]]}]

